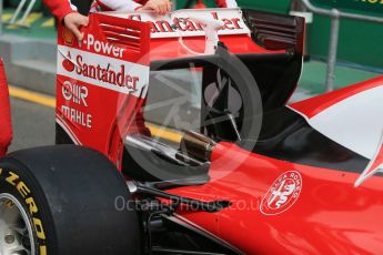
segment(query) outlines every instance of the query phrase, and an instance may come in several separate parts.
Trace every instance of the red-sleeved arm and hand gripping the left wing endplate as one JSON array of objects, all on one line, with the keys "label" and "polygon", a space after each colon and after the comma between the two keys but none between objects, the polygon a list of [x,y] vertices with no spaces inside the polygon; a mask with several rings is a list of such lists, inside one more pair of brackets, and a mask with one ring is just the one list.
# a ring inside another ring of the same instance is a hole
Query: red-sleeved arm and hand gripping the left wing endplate
[{"label": "red-sleeved arm and hand gripping the left wing endplate", "polygon": [[77,12],[77,8],[71,4],[70,0],[43,0],[46,6],[56,16],[60,22],[74,33],[78,40],[82,40],[83,34],[80,31],[81,27],[87,27],[89,23],[88,17]]}]

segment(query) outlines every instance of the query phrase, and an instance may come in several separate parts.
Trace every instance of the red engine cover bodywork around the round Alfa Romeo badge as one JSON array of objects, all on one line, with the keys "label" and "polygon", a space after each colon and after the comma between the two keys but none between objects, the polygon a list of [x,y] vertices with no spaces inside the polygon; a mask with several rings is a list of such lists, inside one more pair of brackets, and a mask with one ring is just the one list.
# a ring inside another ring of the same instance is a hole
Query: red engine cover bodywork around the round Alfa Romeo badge
[{"label": "red engine cover bodywork around the round Alfa Romeo badge", "polygon": [[[308,113],[321,111],[323,102],[336,102],[377,84],[383,84],[383,76],[294,105]],[[214,180],[214,175],[225,171],[226,176]],[[264,215],[260,211],[263,196],[289,171],[302,176],[299,198],[281,214]],[[180,212],[180,215],[245,254],[380,254],[383,251],[381,176],[373,176],[356,188],[354,182],[360,173],[279,161],[231,143],[214,149],[210,175],[209,184],[171,192],[203,201],[219,197],[233,205],[216,214]]]}]

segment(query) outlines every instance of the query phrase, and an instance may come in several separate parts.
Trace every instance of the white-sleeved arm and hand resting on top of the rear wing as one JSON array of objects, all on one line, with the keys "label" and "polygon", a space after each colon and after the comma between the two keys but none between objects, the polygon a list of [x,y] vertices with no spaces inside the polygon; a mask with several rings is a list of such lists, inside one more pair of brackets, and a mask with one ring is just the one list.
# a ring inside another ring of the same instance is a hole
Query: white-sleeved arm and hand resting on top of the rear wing
[{"label": "white-sleeved arm and hand resting on top of the rear wing", "polygon": [[110,11],[140,11],[152,10],[158,14],[167,14],[172,10],[170,0],[149,0],[140,1],[145,4],[140,4],[133,0],[95,0],[102,10]]}]

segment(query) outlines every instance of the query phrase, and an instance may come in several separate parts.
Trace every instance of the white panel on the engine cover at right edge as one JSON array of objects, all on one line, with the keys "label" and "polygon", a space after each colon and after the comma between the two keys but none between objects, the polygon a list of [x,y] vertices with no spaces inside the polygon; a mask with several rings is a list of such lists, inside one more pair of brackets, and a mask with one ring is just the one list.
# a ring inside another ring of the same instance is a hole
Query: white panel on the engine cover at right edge
[{"label": "white panel on the engine cover at right edge", "polygon": [[383,84],[352,95],[311,119],[298,113],[326,137],[372,160],[383,129],[382,111]]}]

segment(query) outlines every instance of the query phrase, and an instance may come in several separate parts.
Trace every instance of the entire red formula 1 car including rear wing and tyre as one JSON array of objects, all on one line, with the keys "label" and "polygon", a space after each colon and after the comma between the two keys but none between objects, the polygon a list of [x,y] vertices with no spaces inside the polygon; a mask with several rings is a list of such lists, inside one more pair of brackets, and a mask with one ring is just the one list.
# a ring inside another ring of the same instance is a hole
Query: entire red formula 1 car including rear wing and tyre
[{"label": "entire red formula 1 car including rear wing and tyre", "polygon": [[[0,254],[381,254],[383,78],[286,105],[303,38],[238,9],[92,14],[80,43],[59,28],[69,145],[0,160]],[[199,125],[174,149],[142,111],[191,80]]]}]

